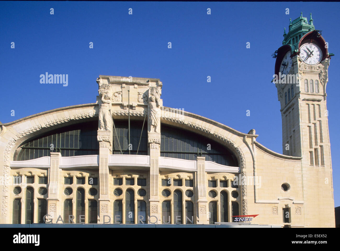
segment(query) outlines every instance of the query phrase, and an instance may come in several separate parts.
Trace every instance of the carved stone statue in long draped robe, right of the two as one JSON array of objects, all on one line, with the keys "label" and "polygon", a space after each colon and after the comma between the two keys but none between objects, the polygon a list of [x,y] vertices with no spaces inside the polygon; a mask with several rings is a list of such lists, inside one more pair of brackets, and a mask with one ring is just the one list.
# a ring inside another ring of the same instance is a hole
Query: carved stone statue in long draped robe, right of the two
[{"label": "carved stone statue in long draped robe, right of the two", "polygon": [[149,89],[149,132],[159,133],[160,129],[160,108],[159,108],[159,91],[156,87]]}]

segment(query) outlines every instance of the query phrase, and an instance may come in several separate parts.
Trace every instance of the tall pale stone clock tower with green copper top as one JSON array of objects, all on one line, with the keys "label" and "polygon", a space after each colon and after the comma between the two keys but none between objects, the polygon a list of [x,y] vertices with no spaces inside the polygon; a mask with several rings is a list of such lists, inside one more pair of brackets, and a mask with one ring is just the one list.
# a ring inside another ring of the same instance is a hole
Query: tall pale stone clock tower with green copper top
[{"label": "tall pale stone clock tower with green copper top", "polygon": [[[323,216],[334,215],[326,107],[328,66],[334,54],[328,53],[328,43],[315,29],[311,14],[309,21],[302,13],[290,20],[289,31],[286,34],[285,28],[283,36],[283,45],[273,54],[283,154],[302,157],[301,170],[296,171],[303,175],[305,207],[310,208],[307,218],[318,215],[321,223]],[[311,202],[316,200],[320,202]]]}]

